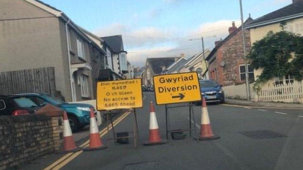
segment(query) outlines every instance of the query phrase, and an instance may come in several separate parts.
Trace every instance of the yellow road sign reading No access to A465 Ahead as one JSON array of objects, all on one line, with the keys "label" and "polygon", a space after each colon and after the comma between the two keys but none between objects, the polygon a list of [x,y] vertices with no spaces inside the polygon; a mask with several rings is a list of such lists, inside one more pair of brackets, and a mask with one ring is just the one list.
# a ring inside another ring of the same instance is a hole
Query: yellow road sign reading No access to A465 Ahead
[{"label": "yellow road sign reading No access to A465 Ahead", "polygon": [[97,110],[142,107],[141,79],[97,83]]}]

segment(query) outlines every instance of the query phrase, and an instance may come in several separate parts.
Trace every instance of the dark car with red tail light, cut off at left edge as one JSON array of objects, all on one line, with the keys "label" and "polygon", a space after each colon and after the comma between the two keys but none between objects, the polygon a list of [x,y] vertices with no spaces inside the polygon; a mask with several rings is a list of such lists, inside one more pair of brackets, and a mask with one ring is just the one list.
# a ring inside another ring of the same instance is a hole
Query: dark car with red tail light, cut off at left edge
[{"label": "dark car with red tail light, cut off at left edge", "polygon": [[0,116],[32,114],[40,107],[31,99],[22,96],[0,96]]}]

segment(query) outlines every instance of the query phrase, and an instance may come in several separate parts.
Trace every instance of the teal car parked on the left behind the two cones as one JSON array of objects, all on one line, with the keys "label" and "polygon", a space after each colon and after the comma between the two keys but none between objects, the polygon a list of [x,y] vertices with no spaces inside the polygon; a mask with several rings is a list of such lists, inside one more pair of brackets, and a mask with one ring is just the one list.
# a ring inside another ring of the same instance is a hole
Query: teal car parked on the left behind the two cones
[{"label": "teal car parked on the left behind the two cones", "polygon": [[67,103],[58,99],[55,99],[47,94],[36,94],[36,93],[27,93],[27,94],[16,94],[25,98],[29,98],[35,102],[38,106],[44,106],[47,103],[52,104],[65,110],[70,122],[70,128],[73,132],[78,131],[84,126],[90,123],[90,109],[93,108],[94,113],[97,114],[95,108],[90,104],[83,103]]}]

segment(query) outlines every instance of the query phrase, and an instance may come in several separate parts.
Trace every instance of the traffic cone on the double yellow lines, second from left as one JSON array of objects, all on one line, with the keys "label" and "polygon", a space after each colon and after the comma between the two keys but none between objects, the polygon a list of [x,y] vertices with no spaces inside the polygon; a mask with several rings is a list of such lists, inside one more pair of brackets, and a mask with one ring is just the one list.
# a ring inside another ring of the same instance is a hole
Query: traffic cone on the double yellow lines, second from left
[{"label": "traffic cone on the double yellow lines, second from left", "polygon": [[107,146],[102,144],[99,129],[96,121],[96,116],[93,109],[90,109],[90,128],[89,128],[89,146],[83,148],[84,151],[105,149]]}]

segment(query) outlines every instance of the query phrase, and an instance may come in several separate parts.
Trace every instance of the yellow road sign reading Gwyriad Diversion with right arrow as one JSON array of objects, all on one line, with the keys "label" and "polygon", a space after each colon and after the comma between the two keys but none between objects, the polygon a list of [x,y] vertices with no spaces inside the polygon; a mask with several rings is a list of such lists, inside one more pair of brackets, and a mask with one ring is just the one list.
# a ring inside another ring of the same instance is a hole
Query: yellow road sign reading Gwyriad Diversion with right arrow
[{"label": "yellow road sign reading Gwyriad Diversion with right arrow", "polygon": [[165,74],[153,77],[157,104],[201,100],[197,72]]}]

